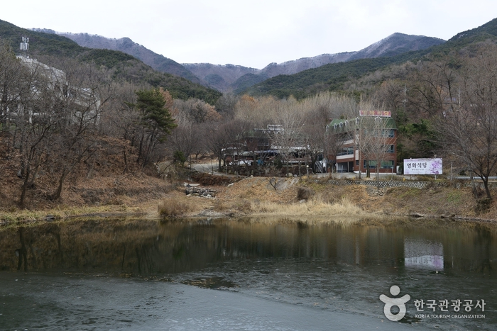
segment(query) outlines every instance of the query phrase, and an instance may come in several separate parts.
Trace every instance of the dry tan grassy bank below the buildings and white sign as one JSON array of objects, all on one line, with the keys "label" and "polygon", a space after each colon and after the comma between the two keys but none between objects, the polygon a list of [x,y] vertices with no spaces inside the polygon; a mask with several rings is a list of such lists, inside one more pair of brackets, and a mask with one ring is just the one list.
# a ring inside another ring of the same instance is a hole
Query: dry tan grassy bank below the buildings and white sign
[{"label": "dry tan grassy bank below the buildings and white sign", "polygon": [[[279,179],[276,188],[268,178],[246,178],[218,188],[215,199],[177,192],[165,198],[160,215],[252,215],[283,218],[315,216],[421,216],[497,220],[497,204],[481,209],[471,189],[464,186],[405,186],[376,189],[366,185],[332,185],[327,179]],[[497,192],[496,192],[497,194]],[[205,213],[205,211],[211,213]]]}]

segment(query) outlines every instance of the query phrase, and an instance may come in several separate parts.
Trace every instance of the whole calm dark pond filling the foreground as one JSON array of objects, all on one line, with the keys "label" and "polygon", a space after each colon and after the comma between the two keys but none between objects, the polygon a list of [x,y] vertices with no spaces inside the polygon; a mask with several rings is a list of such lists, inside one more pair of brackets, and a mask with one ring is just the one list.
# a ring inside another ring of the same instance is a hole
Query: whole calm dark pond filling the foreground
[{"label": "whole calm dark pond filling the foreground", "polygon": [[[0,330],[496,330],[496,229],[106,219],[2,230]],[[393,285],[410,296],[400,322],[379,300]]]}]

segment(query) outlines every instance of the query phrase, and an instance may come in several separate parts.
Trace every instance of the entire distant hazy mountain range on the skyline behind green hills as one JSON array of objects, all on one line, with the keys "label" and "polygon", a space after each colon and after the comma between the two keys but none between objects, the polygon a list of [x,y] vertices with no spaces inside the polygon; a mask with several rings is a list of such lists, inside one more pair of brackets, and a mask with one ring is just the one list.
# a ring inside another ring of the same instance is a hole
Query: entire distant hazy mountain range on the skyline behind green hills
[{"label": "entire distant hazy mountain range on the skyline behind green hills", "polygon": [[280,74],[296,74],[297,72],[321,67],[322,65],[329,63],[394,56],[403,52],[423,50],[433,45],[444,43],[444,40],[438,38],[393,33],[393,35],[380,40],[378,43],[374,43],[373,45],[364,48],[364,50],[359,50],[357,52],[342,52],[337,54],[322,54],[315,57],[303,57],[298,60],[291,60],[279,64],[270,63],[263,69],[255,69],[234,64],[179,64],[163,55],[158,55],[155,52],[148,50],[142,45],[134,43],[133,40],[129,38],[105,38],[101,35],[89,35],[88,33],[59,33],[48,29],[33,30],[65,36],[83,47],[119,50],[136,57],[138,60],[143,61],[160,72],[175,74],[189,79],[192,82],[217,89],[218,91],[234,91],[235,93]]}]

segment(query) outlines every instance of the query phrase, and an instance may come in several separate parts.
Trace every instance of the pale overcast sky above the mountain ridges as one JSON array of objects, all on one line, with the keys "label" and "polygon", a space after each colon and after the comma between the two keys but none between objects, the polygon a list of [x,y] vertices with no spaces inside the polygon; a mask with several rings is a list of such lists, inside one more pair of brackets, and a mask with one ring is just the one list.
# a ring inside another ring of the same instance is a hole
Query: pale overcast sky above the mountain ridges
[{"label": "pale overcast sky above the mountain ridges", "polygon": [[0,19],[21,28],[128,37],[179,63],[257,69],[361,50],[396,32],[448,40],[497,18],[495,0],[5,2]]}]

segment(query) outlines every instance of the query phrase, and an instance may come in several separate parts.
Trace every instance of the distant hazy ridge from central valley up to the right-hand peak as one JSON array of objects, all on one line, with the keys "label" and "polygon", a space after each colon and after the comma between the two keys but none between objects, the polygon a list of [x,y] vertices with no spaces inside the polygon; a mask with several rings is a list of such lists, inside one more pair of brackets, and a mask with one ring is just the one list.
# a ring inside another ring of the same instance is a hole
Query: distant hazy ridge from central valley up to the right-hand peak
[{"label": "distant hazy ridge from central valley up to the right-hand peak", "polygon": [[[324,64],[347,62],[358,59],[371,59],[376,57],[391,57],[405,52],[424,50],[434,45],[445,43],[439,38],[425,37],[423,35],[393,35],[370,45],[357,52],[342,52],[337,54],[322,54],[315,57],[303,57],[299,60],[283,63],[271,63],[263,69],[235,66],[233,64],[214,65],[209,63],[183,63],[190,72],[200,78],[202,84],[211,86],[219,91],[233,90],[235,93],[249,87],[250,82],[257,84],[263,80],[280,74],[297,74],[307,69],[321,67]],[[260,77],[255,77],[258,75]],[[241,79],[239,81],[238,79]]]}]

